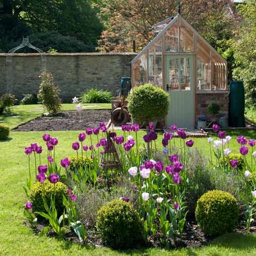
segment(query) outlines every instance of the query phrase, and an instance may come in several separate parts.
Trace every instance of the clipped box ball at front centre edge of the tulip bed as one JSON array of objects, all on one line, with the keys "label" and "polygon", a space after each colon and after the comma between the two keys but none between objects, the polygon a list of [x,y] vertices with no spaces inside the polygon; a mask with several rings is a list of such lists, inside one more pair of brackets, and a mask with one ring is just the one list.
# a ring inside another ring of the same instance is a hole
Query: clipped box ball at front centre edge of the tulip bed
[{"label": "clipped box ball at front centre edge of the tulip bed", "polygon": [[107,246],[132,248],[142,244],[143,224],[131,203],[117,199],[98,211],[96,227]]}]

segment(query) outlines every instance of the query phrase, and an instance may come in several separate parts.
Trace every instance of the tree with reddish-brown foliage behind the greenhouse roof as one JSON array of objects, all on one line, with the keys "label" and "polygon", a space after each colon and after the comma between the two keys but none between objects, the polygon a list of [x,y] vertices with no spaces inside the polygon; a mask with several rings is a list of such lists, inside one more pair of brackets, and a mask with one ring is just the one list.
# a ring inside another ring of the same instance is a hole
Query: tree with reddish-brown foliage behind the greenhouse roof
[{"label": "tree with reddish-brown foliage behind the greenhouse roof", "polygon": [[[142,50],[153,37],[152,25],[176,16],[178,5],[178,1],[170,0],[109,0],[107,3],[99,14],[106,26],[99,41],[102,51],[131,51],[132,41],[136,41],[138,51]],[[183,1],[181,12],[210,43],[230,39],[235,19],[231,1]],[[106,21],[105,17],[110,18]]]}]

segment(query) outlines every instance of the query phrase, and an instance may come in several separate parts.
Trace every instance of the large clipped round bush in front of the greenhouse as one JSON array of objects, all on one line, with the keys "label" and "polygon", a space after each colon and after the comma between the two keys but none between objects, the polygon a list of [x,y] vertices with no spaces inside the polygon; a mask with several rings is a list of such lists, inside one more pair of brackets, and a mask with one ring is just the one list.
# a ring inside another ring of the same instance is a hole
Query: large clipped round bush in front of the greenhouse
[{"label": "large clipped round bush in front of the greenhouse", "polygon": [[134,87],[127,101],[131,117],[139,123],[163,119],[169,109],[169,94],[152,84]]}]

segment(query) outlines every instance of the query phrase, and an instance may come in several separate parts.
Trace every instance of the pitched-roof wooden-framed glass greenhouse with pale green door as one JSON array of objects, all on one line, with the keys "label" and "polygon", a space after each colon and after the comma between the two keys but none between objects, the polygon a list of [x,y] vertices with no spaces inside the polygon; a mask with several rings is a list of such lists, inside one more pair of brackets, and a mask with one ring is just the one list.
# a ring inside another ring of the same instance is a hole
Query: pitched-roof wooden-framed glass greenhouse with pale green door
[{"label": "pitched-roof wooden-framed glass greenhouse with pale green door", "polygon": [[197,126],[207,104],[228,112],[227,62],[181,15],[153,25],[157,36],[132,60],[132,87],[151,83],[170,93],[166,126]]}]

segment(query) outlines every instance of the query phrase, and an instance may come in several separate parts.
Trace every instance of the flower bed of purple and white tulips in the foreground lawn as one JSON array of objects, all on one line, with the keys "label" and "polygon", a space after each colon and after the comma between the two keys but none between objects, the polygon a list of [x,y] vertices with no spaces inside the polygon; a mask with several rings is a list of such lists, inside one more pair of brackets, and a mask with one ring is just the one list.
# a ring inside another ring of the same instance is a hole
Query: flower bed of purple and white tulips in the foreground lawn
[{"label": "flower bed of purple and white tulips in the foreground lawn", "polygon": [[[232,156],[228,148],[232,138],[214,125],[215,139],[208,138],[210,156],[205,159],[194,149],[194,142],[187,138],[186,132],[175,125],[163,134],[161,148],[156,143],[161,135],[154,131],[152,123],[143,137],[144,143],[138,141],[139,125],[123,125],[122,130],[123,134],[117,136],[116,132],[107,131],[104,122],[86,129],[71,145],[76,157],[63,156],[60,164],[55,161],[58,139],[50,134],[43,135],[45,149],[35,143],[25,148],[29,161],[25,215],[33,228],[41,225],[43,234],[53,232],[62,239],[76,235],[80,242],[93,239],[94,244],[99,244],[99,235],[103,244],[114,248],[125,245],[177,247],[183,245],[191,233],[189,227],[195,223],[198,199],[209,190],[224,190],[235,196],[232,204],[240,208],[240,224],[250,232],[256,205],[255,140],[239,136],[240,155]],[[42,150],[46,150],[47,159],[41,158]],[[129,207],[117,202],[113,203],[116,210],[111,207],[102,210],[116,199]],[[206,201],[206,205],[219,204],[214,198],[211,200]],[[221,197],[218,200],[222,202]],[[38,205],[41,205],[39,210]],[[130,210],[127,215],[122,210],[121,217],[118,211],[126,208]],[[136,213],[130,214],[133,209]],[[200,207],[198,209],[197,214],[204,217],[205,214],[198,212]],[[131,221],[137,214],[139,220]],[[203,217],[200,223],[205,223]],[[125,221],[126,218],[129,221]],[[214,219],[214,214],[211,218]],[[107,223],[106,219],[109,219]],[[110,235],[103,230],[106,225],[113,225],[111,235],[114,230],[118,233],[125,229],[125,225],[134,225],[134,230],[142,227],[141,237],[133,239],[131,233],[122,240],[120,235],[106,237]],[[214,221],[214,225],[218,223]],[[221,233],[230,231],[220,230]],[[131,242],[138,239],[140,243]]]}]

